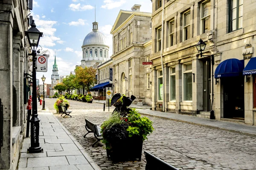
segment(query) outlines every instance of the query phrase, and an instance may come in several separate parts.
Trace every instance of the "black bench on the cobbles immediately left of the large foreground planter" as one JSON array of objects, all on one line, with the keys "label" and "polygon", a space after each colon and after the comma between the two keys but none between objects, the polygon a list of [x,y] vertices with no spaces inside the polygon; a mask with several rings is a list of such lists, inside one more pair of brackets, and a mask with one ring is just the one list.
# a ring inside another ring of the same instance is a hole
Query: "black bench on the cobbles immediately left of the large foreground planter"
[{"label": "black bench on the cobbles immediately left of the large foreground planter", "polygon": [[[88,131],[88,133],[94,133],[94,137],[97,139],[97,141],[95,141],[93,144],[92,144],[92,147],[94,147],[94,145],[102,140],[102,134],[101,134],[101,129],[100,127],[98,127],[96,124],[93,124],[92,122],[88,121],[87,119],[85,119],[85,129]],[[84,135],[84,138],[85,136],[88,134],[86,133]]]}]

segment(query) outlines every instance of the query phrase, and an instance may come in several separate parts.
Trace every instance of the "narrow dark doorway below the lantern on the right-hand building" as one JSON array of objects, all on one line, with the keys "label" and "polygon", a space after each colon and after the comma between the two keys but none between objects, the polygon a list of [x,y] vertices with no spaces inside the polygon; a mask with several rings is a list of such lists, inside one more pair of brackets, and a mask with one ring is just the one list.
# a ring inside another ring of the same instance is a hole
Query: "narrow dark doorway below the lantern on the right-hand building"
[{"label": "narrow dark doorway below the lantern on the right-hand building", "polygon": [[208,59],[203,61],[203,111],[209,112],[211,106],[211,61]]}]

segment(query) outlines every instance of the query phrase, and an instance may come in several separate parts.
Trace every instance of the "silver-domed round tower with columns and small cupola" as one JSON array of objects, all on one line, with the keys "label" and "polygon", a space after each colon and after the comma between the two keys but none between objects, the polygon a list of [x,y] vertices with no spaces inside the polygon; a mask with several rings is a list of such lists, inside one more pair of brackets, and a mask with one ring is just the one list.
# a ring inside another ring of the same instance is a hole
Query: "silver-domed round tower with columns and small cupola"
[{"label": "silver-domed round tower with columns and small cupola", "polygon": [[84,38],[82,51],[83,59],[81,67],[93,66],[96,62],[105,62],[108,57],[109,46],[106,45],[106,37],[98,31],[98,23],[93,23],[93,31]]}]

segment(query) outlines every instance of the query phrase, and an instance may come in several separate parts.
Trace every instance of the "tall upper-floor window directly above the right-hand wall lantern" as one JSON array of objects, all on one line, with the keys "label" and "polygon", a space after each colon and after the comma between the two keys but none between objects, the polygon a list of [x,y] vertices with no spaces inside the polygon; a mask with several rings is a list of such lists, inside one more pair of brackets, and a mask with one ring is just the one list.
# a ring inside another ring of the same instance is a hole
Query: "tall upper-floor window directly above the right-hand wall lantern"
[{"label": "tall upper-floor window directly above the right-hand wall lantern", "polygon": [[211,18],[211,1],[207,0],[201,4],[201,25],[202,33],[209,32],[211,30],[210,18]]}]

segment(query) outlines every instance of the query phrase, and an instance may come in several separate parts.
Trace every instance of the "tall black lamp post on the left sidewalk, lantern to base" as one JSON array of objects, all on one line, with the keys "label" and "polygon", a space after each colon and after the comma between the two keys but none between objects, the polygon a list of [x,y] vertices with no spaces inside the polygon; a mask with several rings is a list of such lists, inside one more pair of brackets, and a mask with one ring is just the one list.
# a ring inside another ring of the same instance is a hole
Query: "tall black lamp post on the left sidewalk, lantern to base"
[{"label": "tall black lamp post on the left sidewalk, lantern to base", "polygon": [[43,32],[40,32],[35,25],[35,20],[32,20],[31,28],[28,31],[25,31],[25,35],[29,40],[29,45],[32,49],[32,57],[33,57],[33,69],[32,69],[32,118],[30,119],[31,123],[31,132],[30,132],[30,142],[31,145],[28,149],[29,153],[40,153],[42,149],[39,144],[39,122],[38,119],[38,111],[37,111],[37,101],[36,101],[36,49],[38,47],[38,43],[40,37],[43,37]]}]

